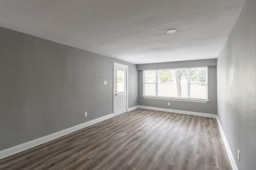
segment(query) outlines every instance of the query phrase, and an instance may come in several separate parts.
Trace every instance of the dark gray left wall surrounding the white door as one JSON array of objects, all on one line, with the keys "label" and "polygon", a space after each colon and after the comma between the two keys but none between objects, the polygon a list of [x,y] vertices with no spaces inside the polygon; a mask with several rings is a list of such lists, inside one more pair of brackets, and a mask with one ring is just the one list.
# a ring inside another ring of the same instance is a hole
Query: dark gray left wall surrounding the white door
[{"label": "dark gray left wall surrounding the white door", "polygon": [[113,113],[113,62],[137,106],[136,65],[0,27],[0,150]]}]

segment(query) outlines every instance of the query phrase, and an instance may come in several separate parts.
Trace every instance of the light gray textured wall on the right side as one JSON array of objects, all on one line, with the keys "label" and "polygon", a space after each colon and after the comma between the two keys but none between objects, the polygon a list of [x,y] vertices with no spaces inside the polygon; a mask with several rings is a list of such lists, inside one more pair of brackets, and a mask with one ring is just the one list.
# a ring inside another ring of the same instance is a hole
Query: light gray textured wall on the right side
[{"label": "light gray textured wall on the right side", "polygon": [[246,1],[218,57],[217,77],[218,117],[238,169],[255,170],[256,0]]}]

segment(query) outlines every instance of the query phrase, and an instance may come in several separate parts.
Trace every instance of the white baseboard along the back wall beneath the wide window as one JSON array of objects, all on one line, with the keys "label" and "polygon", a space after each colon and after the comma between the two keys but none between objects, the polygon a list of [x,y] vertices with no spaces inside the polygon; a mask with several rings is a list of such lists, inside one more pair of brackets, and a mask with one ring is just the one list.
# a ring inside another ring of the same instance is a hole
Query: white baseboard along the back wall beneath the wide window
[{"label": "white baseboard along the back wall beneath the wide window", "polygon": [[203,117],[212,117],[212,118],[217,117],[217,115],[209,114],[209,113],[200,113],[200,112],[194,112],[194,111],[166,109],[166,108],[160,108],[160,107],[139,106],[138,108],[150,109],[150,110],[159,110],[159,111],[168,111],[168,112],[173,112],[173,113],[182,113],[182,114],[187,114],[187,115],[196,115],[196,116],[203,116]]}]

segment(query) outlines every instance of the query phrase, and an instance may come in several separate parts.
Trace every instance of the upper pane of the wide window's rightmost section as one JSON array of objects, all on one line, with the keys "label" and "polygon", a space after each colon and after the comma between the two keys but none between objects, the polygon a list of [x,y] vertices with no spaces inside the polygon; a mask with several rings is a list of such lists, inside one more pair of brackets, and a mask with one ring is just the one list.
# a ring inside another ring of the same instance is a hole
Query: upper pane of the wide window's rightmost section
[{"label": "upper pane of the wide window's rightmost section", "polygon": [[191,80],[191,82],[205,83],[206,82],[206,67],[191,68],[190,80]]}]

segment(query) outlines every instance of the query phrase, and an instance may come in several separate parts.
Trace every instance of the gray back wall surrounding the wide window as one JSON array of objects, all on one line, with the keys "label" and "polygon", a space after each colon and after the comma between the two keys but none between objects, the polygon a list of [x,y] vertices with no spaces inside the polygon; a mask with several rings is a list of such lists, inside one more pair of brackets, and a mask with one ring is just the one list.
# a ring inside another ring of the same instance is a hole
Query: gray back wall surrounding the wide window
[{"label": "gray back wall surrounding the wide window", "polygon": [[[156,63],[156,64],[141,64],[137,65],[137,69],[158,69],[158,68],[178,68],[189,66],[208,66],[208,100],[207,103],[196,102],[181,102],[173,100],[158,100],[158,99],[145,99],[143,98],[143,76],[142,70],[138,71],[138,84],[139,84],[139,105],[160,107],[166,109],[176,109],[184,111],[195,111],[201,113],[217,114],[217,78],[216,78],[216,59],[203,60],[203,61],[181,61],[173,63]],[[170,106],[168,106],[170,102]]]}]

